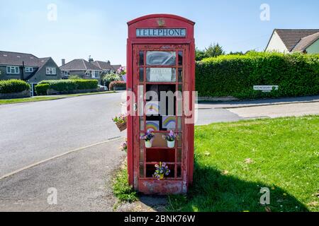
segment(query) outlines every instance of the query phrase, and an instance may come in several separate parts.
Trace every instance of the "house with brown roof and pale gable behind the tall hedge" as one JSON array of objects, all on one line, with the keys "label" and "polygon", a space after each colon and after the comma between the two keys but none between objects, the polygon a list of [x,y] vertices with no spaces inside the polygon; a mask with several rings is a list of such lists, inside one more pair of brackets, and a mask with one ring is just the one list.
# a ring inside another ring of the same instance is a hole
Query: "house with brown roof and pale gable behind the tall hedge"
[{"label": "house with brown roof and pale gable behind the tall hedge", "polygon": [[319,54],[319,29],[275,29],[265,51]]}]

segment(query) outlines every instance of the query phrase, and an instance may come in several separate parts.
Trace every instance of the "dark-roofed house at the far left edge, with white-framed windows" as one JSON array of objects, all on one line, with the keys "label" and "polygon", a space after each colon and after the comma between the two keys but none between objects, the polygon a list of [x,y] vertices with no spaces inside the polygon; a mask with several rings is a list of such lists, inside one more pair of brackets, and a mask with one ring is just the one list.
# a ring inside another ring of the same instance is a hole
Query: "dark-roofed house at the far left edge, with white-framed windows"
[{"label": "dark-roofed house at the far left edge, with white-framed windows", "polygon": [[61,79],[62,72],[51,57],[0,51],[0,80],[21,79],[34,86],[43,80]]}]

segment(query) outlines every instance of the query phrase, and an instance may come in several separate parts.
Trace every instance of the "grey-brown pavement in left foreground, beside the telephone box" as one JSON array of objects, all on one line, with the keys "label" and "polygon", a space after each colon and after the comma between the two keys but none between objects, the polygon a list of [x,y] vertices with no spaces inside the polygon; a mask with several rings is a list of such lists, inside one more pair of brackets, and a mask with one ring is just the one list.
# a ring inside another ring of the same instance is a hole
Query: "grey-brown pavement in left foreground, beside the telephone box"
[{"label": "grey-brown pavement in left foreground, beside the telephone box", "polygon": [[111,181],[125,157],[118,149],[122,141],[69,153],[1,179],[0,212],[113,211],[117,200]]}]

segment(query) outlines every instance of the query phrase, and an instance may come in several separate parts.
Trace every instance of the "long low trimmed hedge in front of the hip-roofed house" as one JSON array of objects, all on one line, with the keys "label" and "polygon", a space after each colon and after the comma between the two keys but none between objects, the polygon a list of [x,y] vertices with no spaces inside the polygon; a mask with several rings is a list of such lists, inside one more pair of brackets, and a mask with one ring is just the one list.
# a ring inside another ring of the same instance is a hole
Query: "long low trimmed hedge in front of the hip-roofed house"
[{"label": "long low trimmed hedge in front of the hip-roofed house", "polygon": [[[62,93],[74,92],[76,90],[93,90],[98,88],[99,81],[97,80],[50,80],[50,81],[41,81],[35,86],[35,89],[39,85],[46,84],[47,89],[56,90]],[[40,87],[39,92],[46,93],[46,90],[43,86]]]}]

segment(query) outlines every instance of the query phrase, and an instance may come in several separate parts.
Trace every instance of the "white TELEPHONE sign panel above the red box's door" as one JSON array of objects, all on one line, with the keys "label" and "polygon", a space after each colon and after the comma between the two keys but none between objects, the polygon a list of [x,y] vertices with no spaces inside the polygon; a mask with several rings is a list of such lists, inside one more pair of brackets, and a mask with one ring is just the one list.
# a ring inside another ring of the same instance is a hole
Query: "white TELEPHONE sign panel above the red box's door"
[{"label": "white TELEPHONE sign panel above the red box's door", "polygon": [[186,37],[186,28],[138,28],[136,37]]}]

